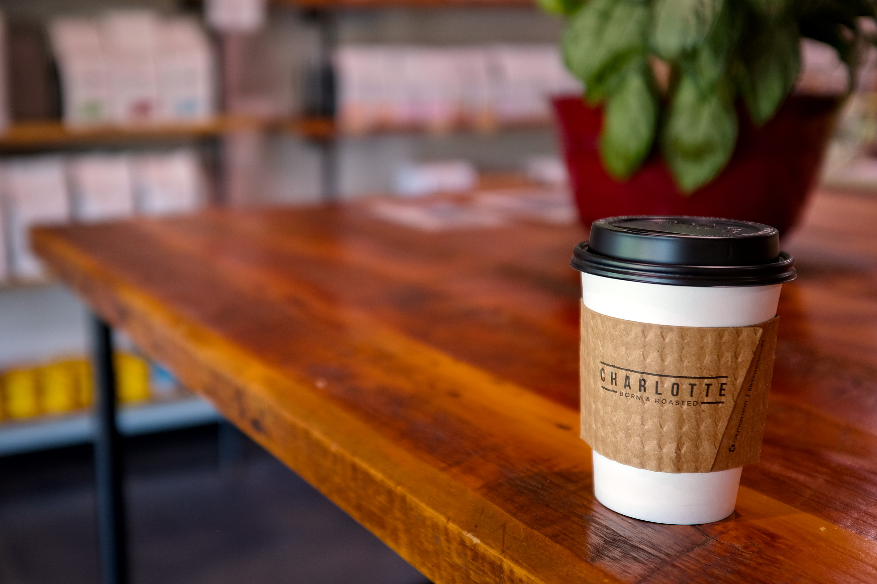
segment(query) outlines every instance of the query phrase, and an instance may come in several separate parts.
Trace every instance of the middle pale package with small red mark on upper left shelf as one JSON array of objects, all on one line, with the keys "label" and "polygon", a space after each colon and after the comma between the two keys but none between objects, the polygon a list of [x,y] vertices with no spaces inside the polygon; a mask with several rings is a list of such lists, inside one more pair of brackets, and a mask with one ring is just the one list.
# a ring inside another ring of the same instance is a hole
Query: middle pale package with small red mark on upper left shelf
[{"label": "middle pale package with small red mark on upper left shelf", "polygon": [[152,11],[110,11],[101,18],[114,122],[148,123],[158,116],[155,53],[159,28],[159,18]]}]

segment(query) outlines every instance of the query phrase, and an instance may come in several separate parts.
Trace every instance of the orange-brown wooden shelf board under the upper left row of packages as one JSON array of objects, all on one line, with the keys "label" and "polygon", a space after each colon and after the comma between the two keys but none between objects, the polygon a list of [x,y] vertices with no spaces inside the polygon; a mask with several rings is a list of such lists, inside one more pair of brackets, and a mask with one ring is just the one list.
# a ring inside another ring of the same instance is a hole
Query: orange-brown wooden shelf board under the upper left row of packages
[{"label": "orange-brown wooden shelf board under the upper left row of packages", "polygon": [[38,150],[91,144],[196,139],[218,136],[234,130],[261,128],[266,125],[267,122],[264,120],[242,116],[220,116],[202,123],[101,125],[81,128],[71,128],[55,121],[17,123],[0,134],[0,150]]}]

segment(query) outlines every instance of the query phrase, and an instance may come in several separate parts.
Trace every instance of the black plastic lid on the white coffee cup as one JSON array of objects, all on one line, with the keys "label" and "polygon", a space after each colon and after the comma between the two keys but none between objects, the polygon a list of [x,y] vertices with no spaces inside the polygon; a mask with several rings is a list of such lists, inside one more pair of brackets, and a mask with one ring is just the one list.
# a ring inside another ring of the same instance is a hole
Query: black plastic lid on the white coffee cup
[{"label": "black plastic lid on the white coffee cup", "polygon": [[595,221],[575,246],[576,270],[687,286],[752,286],[795,279],[795,260],[768,225],[715,217],[632,215]]}]

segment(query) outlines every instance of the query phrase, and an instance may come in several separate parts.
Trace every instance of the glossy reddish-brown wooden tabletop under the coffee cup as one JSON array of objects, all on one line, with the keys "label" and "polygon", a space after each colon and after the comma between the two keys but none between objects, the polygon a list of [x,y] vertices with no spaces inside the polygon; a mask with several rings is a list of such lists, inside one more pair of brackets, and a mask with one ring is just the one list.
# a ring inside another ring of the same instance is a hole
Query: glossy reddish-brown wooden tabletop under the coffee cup
[{"label": "glossy reddish-brown wooden tabletop under the coffee cup", "polygon": [[578,437],[579,227],[424,233],[359,205],[39,229],[241,430],[436,582],[877,581],[877,197],[820,193],[737,512],[650,524]]}]

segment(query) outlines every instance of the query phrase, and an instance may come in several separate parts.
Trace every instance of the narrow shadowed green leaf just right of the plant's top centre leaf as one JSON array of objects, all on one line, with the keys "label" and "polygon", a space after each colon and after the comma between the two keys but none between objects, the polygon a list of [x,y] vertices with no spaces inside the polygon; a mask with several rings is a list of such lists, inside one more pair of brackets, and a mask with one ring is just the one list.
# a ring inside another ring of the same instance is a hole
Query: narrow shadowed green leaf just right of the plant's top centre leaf
[{"label": "narrow shadowed green leaf just right of the plant's top centre leaf", "polygon": [[724,3],[713,29],[702,44],[680,60],[683,71],[697,82],[702,92],[714,90],[727,72],[743,32],[743,17],[739,4]]}]

